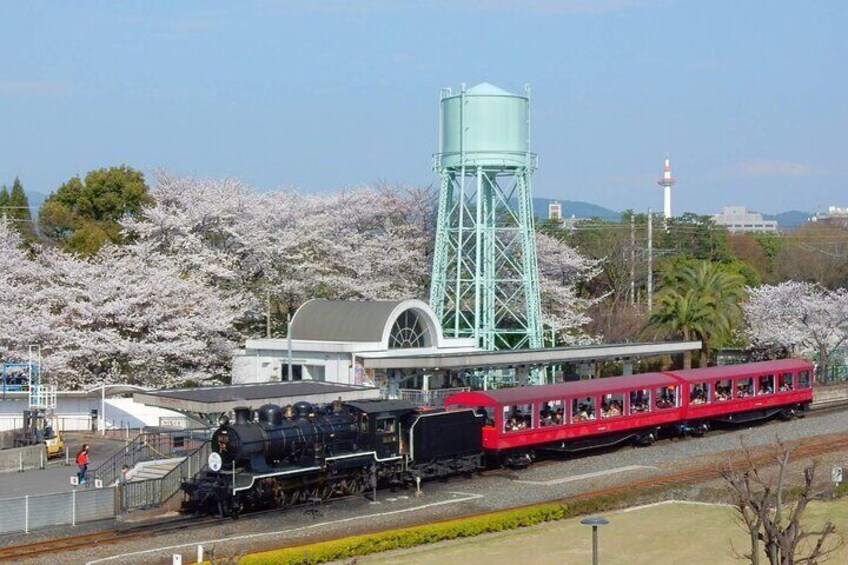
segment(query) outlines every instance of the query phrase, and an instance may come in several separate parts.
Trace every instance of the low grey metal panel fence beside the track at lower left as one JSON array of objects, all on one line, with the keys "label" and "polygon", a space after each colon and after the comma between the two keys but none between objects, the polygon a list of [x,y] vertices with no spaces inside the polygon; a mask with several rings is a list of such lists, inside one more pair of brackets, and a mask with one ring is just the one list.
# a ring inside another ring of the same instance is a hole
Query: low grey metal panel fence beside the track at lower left
[{"label": "low grey metal panel fence beside the track at lower left", "polygon": [[0,499],[0,534],[114,518],[116,496],[102,488]]}]

